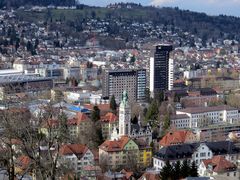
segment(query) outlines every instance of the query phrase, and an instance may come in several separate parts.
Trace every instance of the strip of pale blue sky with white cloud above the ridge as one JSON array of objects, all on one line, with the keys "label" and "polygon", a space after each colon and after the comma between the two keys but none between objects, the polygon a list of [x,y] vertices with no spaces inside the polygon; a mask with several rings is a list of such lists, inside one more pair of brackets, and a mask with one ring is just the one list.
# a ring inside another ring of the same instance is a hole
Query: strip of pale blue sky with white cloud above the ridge
[{"label": "strip of pale blue sky with white cloud above the ridge", "polygon": [[240,0],[80,0],[80,2],[96,6],[106,6],[115,2],[135,2],[142,5],[179,7],[210,15],[240,16]]}]

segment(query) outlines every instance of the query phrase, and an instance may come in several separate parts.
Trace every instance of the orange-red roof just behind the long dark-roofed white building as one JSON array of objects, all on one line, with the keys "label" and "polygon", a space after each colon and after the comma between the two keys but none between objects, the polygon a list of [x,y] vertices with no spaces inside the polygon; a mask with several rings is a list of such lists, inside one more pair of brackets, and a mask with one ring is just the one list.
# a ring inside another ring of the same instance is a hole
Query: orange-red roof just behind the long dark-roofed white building
[{"label": "orange-red roof just behind the long dark-roofed white building", "polygon": [[191,135],[191,131],[187,130],[178,130],[168,132],[160,141],[160,146],[170,146],[173,144],[183,144],[187,137]]}]

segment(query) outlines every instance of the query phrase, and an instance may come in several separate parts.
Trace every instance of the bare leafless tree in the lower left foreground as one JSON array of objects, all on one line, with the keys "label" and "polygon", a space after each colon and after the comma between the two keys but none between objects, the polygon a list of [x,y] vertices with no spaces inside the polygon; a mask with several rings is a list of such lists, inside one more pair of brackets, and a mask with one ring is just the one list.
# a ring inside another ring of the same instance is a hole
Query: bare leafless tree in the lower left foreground
[{"label": "bare leafless tree in the lower left foreground", "polygon": [[[15,159],[19,155],[30,158],[37,179],[56,179],[61,175],[59,169],[59,149],[67,142],[67,118],[61,109],[51,104],[41,107],[37,117],[27,117],[15,113],[13,109],[1,112],[3,133],[0,137],[1,149],[5,156],[9,179],[14,179]],[[56,119],[57,126],[52,123]],[[43,128],[46,131],[43,131]],[[13,140],[19,142],[16,148]]]}]

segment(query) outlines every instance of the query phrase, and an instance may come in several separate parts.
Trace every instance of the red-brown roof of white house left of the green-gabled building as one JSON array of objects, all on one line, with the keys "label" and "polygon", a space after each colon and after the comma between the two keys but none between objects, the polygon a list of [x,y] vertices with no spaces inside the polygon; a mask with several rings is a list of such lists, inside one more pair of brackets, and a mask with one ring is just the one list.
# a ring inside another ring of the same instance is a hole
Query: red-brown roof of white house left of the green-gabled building
[{"label": "red-brown roof of white house left of the green-gabled building", "polygon": [[76,156],[82,157],[88,150],[88,147],[83,144],[65,144],[62,145],[59,153],[61,155],[75,154]]}]

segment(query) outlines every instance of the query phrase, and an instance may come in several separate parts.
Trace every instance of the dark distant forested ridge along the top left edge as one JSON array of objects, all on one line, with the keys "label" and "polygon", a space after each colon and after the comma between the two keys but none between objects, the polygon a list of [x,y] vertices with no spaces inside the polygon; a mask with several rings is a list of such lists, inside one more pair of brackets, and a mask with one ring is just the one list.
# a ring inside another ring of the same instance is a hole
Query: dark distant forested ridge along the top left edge
[{"label": "dark distant forested ridge along the top left edge", "polygon": [[76,4],[75,0],[0,0],[0,8],[12,7],[18,8],[25,5],[38,6],[73,6]]}]

